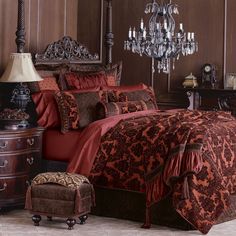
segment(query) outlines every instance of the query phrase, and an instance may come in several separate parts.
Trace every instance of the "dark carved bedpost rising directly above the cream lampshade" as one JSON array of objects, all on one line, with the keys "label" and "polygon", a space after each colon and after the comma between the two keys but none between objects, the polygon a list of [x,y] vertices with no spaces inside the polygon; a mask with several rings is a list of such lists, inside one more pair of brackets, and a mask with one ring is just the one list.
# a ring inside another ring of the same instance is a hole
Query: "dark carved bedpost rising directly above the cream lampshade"
[{"label": "dark carved bedpost rising directly above the cream lampshade", "polygon": [[25,3],[18,0],[18,20],[16,31],[17,53],[23,53],[25,47]]}]

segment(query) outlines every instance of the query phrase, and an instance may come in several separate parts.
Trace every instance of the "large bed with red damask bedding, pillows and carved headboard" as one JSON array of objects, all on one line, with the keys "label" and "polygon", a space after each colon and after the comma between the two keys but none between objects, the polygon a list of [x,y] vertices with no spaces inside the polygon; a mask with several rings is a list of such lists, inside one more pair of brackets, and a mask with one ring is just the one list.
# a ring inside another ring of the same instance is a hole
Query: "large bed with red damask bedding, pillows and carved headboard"
[{"label": "large bed with red damask bedding, pillows and carved headboard", "polygon": [[236,214],[235,118],[223,111],[160,111],[148,86],[120,86],[111,1],[107,9],[106,65],[93,64],[96,56],[70,37],[35,57],[44,82],[30,89],[38,124],[46,128],[44,171],[88,176],[94,214],[207,233]]}]

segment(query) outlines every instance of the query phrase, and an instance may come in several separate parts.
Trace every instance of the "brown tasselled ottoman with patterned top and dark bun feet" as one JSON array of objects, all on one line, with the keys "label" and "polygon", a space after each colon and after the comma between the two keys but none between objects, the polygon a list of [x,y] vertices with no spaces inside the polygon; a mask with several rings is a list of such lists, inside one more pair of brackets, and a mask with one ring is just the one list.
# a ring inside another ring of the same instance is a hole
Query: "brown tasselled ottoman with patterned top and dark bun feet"
[{"label": "brown tasselled ottoman with patterned top and dark bun feet", "polygon": [[76,218],[80,224],[88,218],[95,203],[93,186],[89,180],[77,174],[47,172],[37,175],[27,190],[25,208],[39,226],[41,215],[67,218],[68,229],[73,229]]}]

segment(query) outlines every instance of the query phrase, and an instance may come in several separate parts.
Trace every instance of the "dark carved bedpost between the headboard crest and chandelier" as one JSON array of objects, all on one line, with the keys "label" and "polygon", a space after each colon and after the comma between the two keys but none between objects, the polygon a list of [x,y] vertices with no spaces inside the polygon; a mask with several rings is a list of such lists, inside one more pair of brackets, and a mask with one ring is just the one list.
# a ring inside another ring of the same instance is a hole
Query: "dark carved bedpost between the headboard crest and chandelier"
[{"label": "dark carved bedpost between the headboard crest and chandelier", "polygon": [[112,33],[112,0],[107,1],[107,19],[106,19],[106,65],[112,64],[112,46],[114,45],[114,34]]}]

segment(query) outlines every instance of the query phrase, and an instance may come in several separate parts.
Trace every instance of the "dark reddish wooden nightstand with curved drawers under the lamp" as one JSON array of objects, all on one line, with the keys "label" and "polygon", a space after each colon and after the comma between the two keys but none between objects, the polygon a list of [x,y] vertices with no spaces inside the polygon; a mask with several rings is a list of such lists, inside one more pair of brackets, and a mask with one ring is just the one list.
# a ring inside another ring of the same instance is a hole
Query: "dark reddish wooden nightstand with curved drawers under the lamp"
[{"label": "dark reddish wooden nightstand with curved drawers under the lamp", "polygon": [[0,130],[0,209],[24,204],[30,180],[41,169],[43,131]]}]

